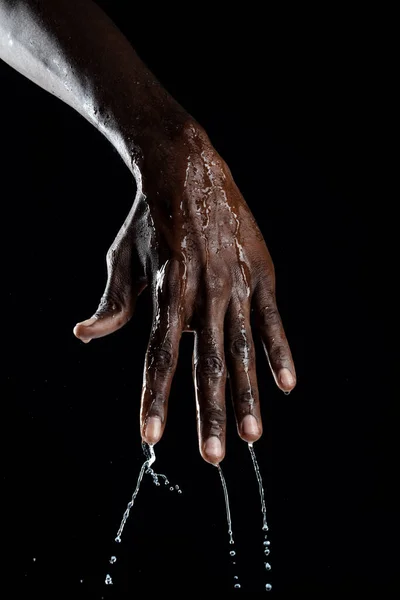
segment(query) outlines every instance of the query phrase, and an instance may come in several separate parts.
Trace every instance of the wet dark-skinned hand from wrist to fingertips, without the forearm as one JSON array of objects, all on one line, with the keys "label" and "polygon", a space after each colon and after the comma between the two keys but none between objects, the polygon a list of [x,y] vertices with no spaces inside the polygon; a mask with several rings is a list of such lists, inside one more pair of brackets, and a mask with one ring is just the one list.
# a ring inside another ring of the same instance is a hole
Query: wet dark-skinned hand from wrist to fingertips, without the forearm
[{"label": "wet dark-skinned hand from wrist to fingertips, without the forearm", "polygon": [[239,435],[253,442],[262,434],[251,310],[277,385],[296,384],[274,267],[228,166],[196,122],[160,135],[144,154],[142,189],[107,254],[104,296],[74,333],[88,342],[116,331],[149,285],[142,437],[155,444],[163,434],[180,337],[192,331],[200,452],[216,464],[225,455],[228,372]]}]

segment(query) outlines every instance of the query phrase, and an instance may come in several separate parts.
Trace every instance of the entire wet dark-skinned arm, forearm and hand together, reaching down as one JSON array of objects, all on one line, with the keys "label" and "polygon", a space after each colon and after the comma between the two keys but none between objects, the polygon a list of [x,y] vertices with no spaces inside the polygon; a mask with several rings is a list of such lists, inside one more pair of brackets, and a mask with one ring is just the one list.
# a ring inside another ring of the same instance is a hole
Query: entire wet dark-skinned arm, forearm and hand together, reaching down
[{"label": "entire wet dark-skinned arm, forearm and hand together, reaching down", "polygon": [[200,452],[218,464],[228,373],[239,435],[262,435],[251,312],[278,387],[296,384],[273,263],[229,167],[90,0],[0,0],[0,57],[101,131],[137,183],[107,253],[104,295],[75,335],[89,342],[120,329],[149,286],[142,438],[155,444],[163,434],[179,341],[193,332]]}]

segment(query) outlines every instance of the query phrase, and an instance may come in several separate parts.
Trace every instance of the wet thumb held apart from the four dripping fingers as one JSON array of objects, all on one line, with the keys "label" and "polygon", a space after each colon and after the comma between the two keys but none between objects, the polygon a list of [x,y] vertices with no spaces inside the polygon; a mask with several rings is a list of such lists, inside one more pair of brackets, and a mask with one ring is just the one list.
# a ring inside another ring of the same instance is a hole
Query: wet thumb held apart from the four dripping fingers
[{"label": "wet thumb held apart from the four dripping fingers", "polygon": [[104,337],[123,327],[133,315],[137,297],[147,285],[142,274],[132,273],[132,250],[111,248],[107,253],[108,279],[92,317],[77,323],[74,335],[82,342]]}]

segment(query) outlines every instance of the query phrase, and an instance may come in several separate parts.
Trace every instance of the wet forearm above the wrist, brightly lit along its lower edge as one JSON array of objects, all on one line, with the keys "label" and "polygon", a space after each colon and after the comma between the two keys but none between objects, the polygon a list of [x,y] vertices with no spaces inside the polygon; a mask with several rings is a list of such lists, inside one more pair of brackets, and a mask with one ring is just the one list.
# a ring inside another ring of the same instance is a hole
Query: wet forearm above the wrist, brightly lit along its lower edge
[{"label": "wet forearm above the wrist, brightly lit along its lower edge", "polygon": [[67,103],[127,166],[189,115],[91,0],[0,0],[0,58]]}]

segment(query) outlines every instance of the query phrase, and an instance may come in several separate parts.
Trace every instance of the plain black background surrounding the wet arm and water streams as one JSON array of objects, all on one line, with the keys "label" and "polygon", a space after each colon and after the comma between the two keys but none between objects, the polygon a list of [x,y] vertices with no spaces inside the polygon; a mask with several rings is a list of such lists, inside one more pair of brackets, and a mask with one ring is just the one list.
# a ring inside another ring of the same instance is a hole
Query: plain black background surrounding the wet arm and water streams
[{"label": "plain black background surrounding the wet arm and water streams", "polygon": [[[128,15],[101,4],[208,131],[276,267],[298,386],[288,397],[274,386],[257,342],[273,570],[267,578],[257,485],[230,411],[223,467],[242,591],[262,592],[268,579],[288,597],[397,590],[390,35],[348,15]],[[72,109],[3,63],[0,86],[9,581],[86,598],[233,591],[218,473],[197,448],[190,335],[155,465],[184,492],[146,478],[108,565],[143,461],[150,297],[109,338],[86,346],[72,328],[102,295],[134,183]]]}]

